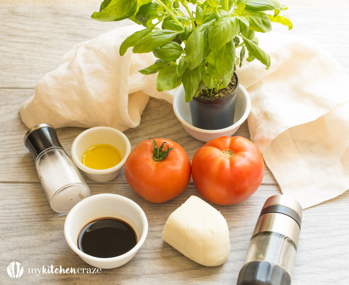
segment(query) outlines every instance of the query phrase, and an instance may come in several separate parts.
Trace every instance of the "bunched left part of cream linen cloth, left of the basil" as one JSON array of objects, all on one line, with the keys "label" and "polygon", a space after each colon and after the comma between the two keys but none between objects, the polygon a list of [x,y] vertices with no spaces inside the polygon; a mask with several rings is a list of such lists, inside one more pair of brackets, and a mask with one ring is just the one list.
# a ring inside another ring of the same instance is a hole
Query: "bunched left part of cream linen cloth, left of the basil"
[{"label": "bunched left part of cream linen cloth, left of the basil", "polygon": [[35,94],[20,108],[28,128],[109,126],[124,131],[139,125],[149,95],[172,102],[174,90],[158,92],[157,74],[138,70],[156,60],[148,54],[119,55],[121,43],[144,27],[132,25],[74,45],[61,64],[39,80]]}]

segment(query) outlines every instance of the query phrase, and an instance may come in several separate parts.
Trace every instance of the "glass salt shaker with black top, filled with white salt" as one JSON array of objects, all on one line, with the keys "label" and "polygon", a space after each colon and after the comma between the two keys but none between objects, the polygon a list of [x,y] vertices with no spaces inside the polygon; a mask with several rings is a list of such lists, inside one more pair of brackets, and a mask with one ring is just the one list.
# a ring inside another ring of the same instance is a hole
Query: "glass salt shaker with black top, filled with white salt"
[{"label": "glass salt shaker with black top, filled with white salt", "polygon": [[35,159],[41,185],[54,211],[68,213],[77,202],[90,196],[90,188],[60,144],[54,127],[32,127],[24,136],[24,145]]}]

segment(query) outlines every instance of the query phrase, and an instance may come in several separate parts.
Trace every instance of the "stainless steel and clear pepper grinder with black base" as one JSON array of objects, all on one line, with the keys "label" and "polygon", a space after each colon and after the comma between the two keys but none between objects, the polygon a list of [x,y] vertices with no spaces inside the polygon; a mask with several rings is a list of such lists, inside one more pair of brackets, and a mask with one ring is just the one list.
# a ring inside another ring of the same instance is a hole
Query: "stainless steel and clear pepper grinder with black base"
[{"label": "stainless steel and clear pepper grinder with black base", "polygon": [[254,227],[237,285],[290,285],[301,223],[302,206],[297,200],[269,197]]}]

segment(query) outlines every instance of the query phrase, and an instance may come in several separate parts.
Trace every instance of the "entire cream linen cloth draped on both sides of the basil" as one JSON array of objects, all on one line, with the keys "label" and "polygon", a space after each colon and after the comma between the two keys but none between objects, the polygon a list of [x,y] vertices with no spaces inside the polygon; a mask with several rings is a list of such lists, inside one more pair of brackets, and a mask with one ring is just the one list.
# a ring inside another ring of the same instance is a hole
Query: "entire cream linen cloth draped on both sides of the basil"
[{"label": "entire cream linen cloth draped on both sides of the basil", "polygon": [[[151,53],[129,49],[119,56],[122,41],[140,28],[75,45],[23,103],[23,122],[124,131],[138,126],[149,95],[172,102],[174,91],[156,90],[157,74],[138,73],[154,63]],[[348,76],[316,42],[277,33],[259,37],[272,59],[269,70],[257,60],[237,70],[251,96],[251,140],[282,192],[303,208],[334,198],[349,188]]]}]

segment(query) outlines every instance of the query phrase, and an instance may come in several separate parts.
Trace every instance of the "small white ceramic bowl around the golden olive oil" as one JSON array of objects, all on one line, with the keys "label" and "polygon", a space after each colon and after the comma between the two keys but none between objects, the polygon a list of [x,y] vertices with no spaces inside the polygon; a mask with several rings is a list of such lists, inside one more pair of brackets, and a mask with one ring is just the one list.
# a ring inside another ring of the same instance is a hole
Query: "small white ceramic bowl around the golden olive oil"
[{"label": "small white ceramic bowl around the golden olive oil", "polygon": [[[92,145],[105,143],[116,147],[122,156],[121,161],[108,169],[92,169],[82,164],[82,155]],[[94,127],[84,130],[78,135],[72,145],[72,158],[88,178],[97,182],[106,182],[116,178],[125,165],[131,152],[131,144],[128,138],[119,130],[110,127]]]}]

